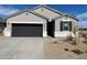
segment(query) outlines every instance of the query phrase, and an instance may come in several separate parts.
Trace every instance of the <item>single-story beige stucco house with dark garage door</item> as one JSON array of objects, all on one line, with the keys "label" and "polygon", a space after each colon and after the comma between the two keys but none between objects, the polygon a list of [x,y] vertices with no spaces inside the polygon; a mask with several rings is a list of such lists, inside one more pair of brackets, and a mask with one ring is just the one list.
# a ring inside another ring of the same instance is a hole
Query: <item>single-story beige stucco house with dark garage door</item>
[{"label": "single-story beige stucco house with dark garage door", "polygon": [[[67,36],[77,19],[47,6],[19,11],[6,18],[6,36]],[[73,35],[73,34],[72,34]]]}]

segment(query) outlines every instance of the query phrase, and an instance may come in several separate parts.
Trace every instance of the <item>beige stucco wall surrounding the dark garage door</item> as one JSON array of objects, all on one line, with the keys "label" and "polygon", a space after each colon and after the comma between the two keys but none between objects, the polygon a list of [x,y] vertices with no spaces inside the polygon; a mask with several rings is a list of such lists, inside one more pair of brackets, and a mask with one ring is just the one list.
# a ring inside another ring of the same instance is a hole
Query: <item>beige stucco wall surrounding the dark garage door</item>
[{"label": "beige stucco wall surrounding the dark garage door", "polygon": [[46,20],[40,17],[36,17],[30,12],[28,14],[26,12],[24,12],[7,20],[7,28],[4,29],[4,35],[11,36],[12,23],[35,23],[35,24],[43,24],[43,36],[46,36],[47,35],[46,22],[47,22]]}]

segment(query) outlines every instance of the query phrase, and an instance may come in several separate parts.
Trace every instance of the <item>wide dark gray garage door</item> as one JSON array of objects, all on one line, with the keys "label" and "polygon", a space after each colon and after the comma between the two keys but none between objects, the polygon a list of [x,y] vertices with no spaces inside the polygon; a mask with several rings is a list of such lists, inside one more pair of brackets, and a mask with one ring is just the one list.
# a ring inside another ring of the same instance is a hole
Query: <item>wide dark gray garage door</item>
[{"label": "wide dark gray garage door", "polygon": [[12,24],[12,36],[43,36],[42,24]]}]

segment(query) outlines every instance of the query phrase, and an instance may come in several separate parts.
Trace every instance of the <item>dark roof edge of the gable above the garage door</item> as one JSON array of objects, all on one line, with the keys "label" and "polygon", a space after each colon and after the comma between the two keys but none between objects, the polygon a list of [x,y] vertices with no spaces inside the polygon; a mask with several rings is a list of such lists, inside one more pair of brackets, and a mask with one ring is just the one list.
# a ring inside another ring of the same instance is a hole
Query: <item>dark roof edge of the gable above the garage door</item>
[{"label": "dark roof edge of the gable above the garage door", "polygon": [[24,12],[30,12],[30,13],[32,13],[32,14],[34,14],[34,15],[37,15],[37,17],[42,18],[42,19],[48,20],[48,18],[46,18],[46,17],[44,17],[44,15],[42,15],[42,14],[39,14],[39,13],[36,13],[36,12],[32,12],[32,11],[29,10],[29,9],[22,10],[22,11],[19,11],[19,12],[15,12],[15,13],[9,15],[8,18],[4,18],[4,20],[10,19],[10,18],[13,18],[13,17],[19,15],[19,14],[24,13]]}]

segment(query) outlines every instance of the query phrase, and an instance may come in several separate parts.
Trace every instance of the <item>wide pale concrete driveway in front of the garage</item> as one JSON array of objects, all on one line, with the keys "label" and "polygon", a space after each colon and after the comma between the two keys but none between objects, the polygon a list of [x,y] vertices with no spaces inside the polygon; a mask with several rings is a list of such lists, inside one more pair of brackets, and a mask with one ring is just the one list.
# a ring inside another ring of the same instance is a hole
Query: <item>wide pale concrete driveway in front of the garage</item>
[{"label": "wide pale concrete driveway in front of the garage", "polygon": [[44,58],[43,37],[7,37],[0,40],[0,59]]}]

